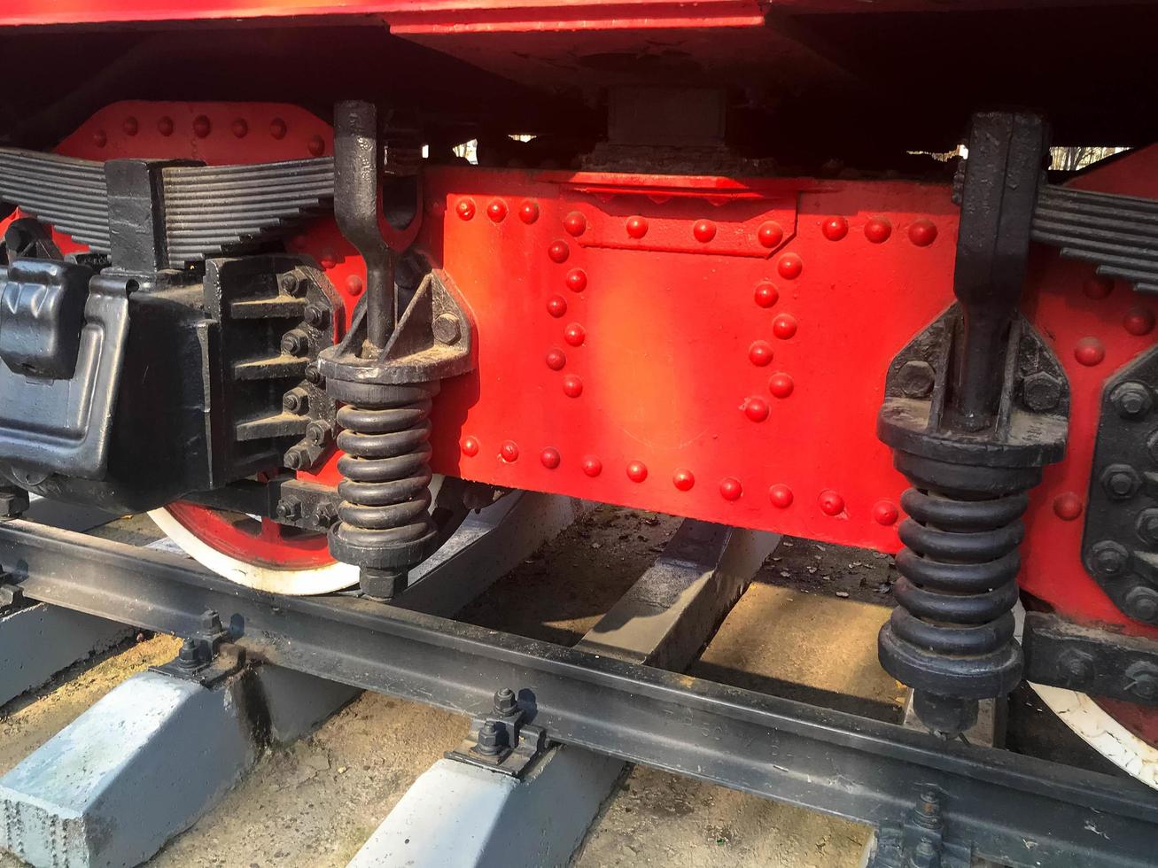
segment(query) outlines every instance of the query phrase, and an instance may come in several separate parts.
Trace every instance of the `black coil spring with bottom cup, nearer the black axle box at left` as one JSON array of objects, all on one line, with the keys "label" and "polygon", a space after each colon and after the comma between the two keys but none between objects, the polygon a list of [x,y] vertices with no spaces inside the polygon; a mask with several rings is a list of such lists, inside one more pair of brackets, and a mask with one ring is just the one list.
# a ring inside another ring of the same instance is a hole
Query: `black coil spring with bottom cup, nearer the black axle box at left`
[{"label": "black coil spring with bottom cup, nearer the black axle box at left", "polygon": [[[430,517],[430,385],[382,387],[373,405],[338,410],[342,483],[331,551],[371,569],[402,569],[426,554]],[[338,543],[335,546],[335,538]]]}]

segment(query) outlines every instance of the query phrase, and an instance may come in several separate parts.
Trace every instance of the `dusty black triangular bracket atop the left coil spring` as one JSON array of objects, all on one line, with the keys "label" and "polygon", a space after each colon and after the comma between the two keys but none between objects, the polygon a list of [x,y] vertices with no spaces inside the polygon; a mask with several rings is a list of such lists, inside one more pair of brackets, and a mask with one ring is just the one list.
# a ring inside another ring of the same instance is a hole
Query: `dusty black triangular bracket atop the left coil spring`
[{"label": "dusty black triangular bracket atop the left coil spring", "polygon": [[[318,370],[328,384],[335,381],[373,385],[428,383],[472,370],[470,321],[447,288],[448,282],[445,272],[427,271],[398,317],[384,352],[376,358],[360,355],[366,340],[366,296],[362,296],[345,338],[318,358]],[[401,292],[398,296],[405,297]]]}]

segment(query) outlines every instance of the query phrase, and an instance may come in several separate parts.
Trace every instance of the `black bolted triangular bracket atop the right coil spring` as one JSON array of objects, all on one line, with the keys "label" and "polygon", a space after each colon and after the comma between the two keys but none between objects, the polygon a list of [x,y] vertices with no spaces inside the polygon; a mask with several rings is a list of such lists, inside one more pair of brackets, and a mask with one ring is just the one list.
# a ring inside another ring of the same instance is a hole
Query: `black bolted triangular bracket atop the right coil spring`
[{"label": "black bolted triangular bracket atop the right coil spring", "polygon": [[1041,468],[1065,454],[1070,389],[1049,345],[1024,316],[1010,330],[1005,383],[994,429],[966,433],[948,407],[962,312],[953,304],[893,359],[877,435],[901,453],[977,468]]}]

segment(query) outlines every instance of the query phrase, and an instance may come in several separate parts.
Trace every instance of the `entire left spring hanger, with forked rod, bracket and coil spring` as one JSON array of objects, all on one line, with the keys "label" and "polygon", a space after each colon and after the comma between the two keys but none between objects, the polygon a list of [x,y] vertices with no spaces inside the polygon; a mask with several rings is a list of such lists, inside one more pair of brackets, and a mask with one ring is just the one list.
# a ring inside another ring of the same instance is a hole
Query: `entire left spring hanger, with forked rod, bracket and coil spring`
[{"label": "entire left spring hanger, with forked rod, bracket and coil spring", "polygon": [[[344,404],[337,413],[342,505],[329,544],[335,558],[360,568],[367,595],[389,599],[438,544],[430,515],[431,400],[441,380],[474,363],[470,324],[438,272],[428,271],[412,293],[396,287],[396,257],[418,231],[422,187],[411,161],[400,161],[406,175],[398,177],[389,175],[389,156],[384,172],[379,157],[374,105],[338,103],[334,213],[366,263],[366,292],[350,331],[318,358],[327,393]],[[397,183],[380,194],[383,174]],[[389,203],[391,218],[409,216],[402,228],[387,221],[382,205],[395,190],[409,199]]]}]

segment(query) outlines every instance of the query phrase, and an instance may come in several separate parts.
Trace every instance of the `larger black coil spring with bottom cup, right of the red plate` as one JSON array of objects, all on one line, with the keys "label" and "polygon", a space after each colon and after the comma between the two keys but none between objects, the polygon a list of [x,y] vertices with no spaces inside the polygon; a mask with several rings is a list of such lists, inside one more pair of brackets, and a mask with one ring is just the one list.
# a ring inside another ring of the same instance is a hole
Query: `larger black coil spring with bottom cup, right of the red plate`
[{"label": "larger black coil spring with bottom cup, right of the red plate", "polygon": [[910,475],[917,487],[901,496],[910,517],[900,528],[899,608],[880,635],[894,677],[962,699],[1002,696],[1021,677],[1012,609],[1034,471],[1027,479],[1026,469],[983,470],[1004,490],[944,491]]}]

